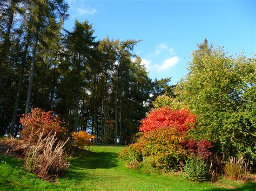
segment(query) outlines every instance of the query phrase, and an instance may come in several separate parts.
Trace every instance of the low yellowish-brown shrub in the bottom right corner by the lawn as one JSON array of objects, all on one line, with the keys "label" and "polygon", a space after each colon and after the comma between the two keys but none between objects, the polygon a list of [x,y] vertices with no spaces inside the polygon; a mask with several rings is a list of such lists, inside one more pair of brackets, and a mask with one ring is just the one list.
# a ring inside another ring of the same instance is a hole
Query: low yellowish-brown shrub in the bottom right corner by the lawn
[{"label": "low yellowish-brown shrub in the bottom right corner by the lawn", "polygon": [[225,165],[225,176],[231,180],[247,180],[250,178],[251,168],[248,169],[249,161],[245,162],[244,157],[230,157]]}]

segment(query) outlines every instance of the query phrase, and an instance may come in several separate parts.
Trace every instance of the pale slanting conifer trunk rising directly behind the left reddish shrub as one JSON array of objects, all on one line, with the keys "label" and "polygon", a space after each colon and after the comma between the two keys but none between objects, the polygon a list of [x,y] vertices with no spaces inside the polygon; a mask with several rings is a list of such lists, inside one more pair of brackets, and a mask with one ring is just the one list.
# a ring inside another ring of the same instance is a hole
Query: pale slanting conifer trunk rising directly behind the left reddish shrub
[{"label": "pale slanting conifer trunk rising directly behind the left reddish shrub", "polygon": [[36,32],[36,38],[33,45],[33,53],[32,53],[32,62],[30,68],[30,77],[29,77],[29,88],[28,88],[28,96],[26,97],[26,109],[25,114],[28,114],[30,111],[30,103],[31,103],[31,94],[32,94],[32,86],[33,86],[33,76],[35,73],[35,63],[36,63],[36,52],[37,52],[37,43],[38,43],[38,34],[39,31]]}]

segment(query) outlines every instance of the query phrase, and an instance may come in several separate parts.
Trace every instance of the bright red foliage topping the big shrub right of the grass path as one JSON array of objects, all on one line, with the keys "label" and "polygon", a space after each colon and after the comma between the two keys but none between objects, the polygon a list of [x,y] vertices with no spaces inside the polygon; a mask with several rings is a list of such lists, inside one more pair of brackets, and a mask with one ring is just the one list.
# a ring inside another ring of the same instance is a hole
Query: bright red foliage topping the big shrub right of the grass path
[{"label": "bright red foliage topping the big shrub right of the grass path", "polygon": [[169,106],[166,106],[152,110],[142,120],[139,130],[147,134],[158,128],[170,127],[183,132],[192,129],[195,124],[195,117],[189,110],[172,110]]}]

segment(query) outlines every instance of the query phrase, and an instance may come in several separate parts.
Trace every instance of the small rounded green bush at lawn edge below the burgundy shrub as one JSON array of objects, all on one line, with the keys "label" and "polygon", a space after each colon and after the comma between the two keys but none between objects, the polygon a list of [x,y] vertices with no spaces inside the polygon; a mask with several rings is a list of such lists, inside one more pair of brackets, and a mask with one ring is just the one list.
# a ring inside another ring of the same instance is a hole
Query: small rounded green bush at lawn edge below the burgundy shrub
[{"label": "small rounded green bush at lawn edge below the burgundy shrub", "polygon": [[201,182],[207,180],[208,169],[208,165],[203,159],[191,157],[187,160],[184,171],[188,180]]}]

